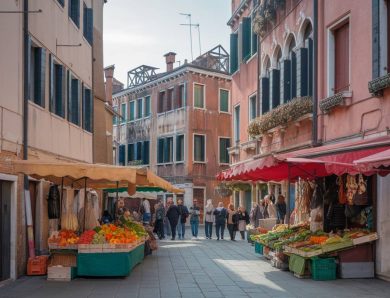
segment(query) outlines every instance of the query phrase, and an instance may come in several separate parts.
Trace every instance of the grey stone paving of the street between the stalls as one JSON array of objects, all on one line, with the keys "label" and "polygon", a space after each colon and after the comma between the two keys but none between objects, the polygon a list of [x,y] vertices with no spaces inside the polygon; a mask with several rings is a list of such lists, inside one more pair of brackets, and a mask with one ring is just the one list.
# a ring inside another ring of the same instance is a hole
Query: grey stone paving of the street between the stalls
[{"label": "grey stone paving of the street between the stalls", "polygon": [[[187,233],[188,235],[189,233]],[[381,280],[313,281],[279,271],[246,241],[160,242],[127,278],[50,282],[23,277],[0,287],[0,297],[390,297]]]}]

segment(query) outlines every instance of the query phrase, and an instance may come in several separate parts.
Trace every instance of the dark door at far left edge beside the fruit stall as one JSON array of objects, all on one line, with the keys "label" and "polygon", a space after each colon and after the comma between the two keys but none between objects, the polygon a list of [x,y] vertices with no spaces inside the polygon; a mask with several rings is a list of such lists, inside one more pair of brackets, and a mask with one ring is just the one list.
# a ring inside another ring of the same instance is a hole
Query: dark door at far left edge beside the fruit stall
[{"label": "dark door at far left edge beside the fruit stall", "polygon": [[10,278],[11,185],[0,181],[0,281]]}]

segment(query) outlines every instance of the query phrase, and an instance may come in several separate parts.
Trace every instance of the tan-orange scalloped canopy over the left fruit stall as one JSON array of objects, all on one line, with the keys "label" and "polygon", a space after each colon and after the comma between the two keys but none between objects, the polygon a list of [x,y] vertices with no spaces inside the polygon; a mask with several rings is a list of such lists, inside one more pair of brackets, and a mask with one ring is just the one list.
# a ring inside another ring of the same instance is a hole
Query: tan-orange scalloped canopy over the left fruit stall
[{"label": "tan-orange scalloped canopy over the left fruit stall", "polygon": [[45,179],[57,185],[94,189],[125,187],[131,195],[136,186],[158,187],[171,193],[183,193],[168,181],[140,167],[103,164],[65,163],[41,160],[12,161],[14,172]]}]

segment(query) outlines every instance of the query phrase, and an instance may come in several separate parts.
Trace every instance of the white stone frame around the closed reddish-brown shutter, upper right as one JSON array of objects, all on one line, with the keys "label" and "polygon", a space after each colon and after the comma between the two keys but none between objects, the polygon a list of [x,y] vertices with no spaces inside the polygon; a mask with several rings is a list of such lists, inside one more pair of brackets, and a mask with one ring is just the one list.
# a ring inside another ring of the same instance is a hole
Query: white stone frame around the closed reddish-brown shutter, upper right
[{"label": "white stone frame around the closed reddish-brown shutter, upper right", "polygon": [[[331,26],[327,28],[327,39],[328,39],[328,49],[327,49],[327,96],[332,96],[335,94],[335,75],[336,75],[336,61],[335,61],[335,39],[334,31],[342,23],[349,24],[349,84],[351,84],[351,15],[347,14],[341,19],[337,20]],[[350,88],[350,87],[349,87]]]}]

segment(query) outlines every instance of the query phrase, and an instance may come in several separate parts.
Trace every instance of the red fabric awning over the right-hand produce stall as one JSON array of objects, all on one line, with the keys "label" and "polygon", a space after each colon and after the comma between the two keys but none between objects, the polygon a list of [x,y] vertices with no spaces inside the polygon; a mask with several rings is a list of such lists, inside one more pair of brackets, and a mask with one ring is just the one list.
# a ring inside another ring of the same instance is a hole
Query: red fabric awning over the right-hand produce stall
[{"label": "red fabric awning over the right-hand produce stall", "polygon": [[377,171],[373,168],[362,169],[354,161],[385,152],[389,148],[390,137],[386,136],[268,155],[234,165],[219,173],[217,179],[221,181],[281,181],[295,180],[298,177],[315,178],[344,173],[363,172],[371,175]]}]

